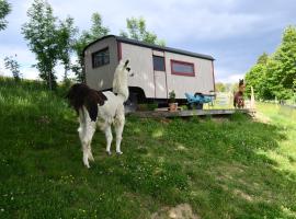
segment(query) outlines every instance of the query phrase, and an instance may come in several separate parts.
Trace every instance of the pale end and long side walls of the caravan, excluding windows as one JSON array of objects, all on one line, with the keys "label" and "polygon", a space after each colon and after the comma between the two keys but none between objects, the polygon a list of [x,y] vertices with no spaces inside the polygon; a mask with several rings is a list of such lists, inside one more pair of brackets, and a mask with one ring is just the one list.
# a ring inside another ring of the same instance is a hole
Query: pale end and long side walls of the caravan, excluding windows
[{"label": "pale end and long side walls of the caravan, excluding windows", "polygon": [[[129,87],[137,87],[144,90],[148,99],[167,99],[171,90],[175,91],[177,99],[185,99],[184,93],[194,94],[201,92],[209,94],[214,90],[212,60],[170,51],[152,50],[151,48],[118,43],[115,37],[107,37],[90,45],[84,51],[87,84],[95,90],[112,88],[113,74],[118,64],[118,55],[123,60],[129,59],[134,77],[128,79]],[[92,68],[92,53],[105,47],[110,49],[110,65]],[[163,56],[166,60],[166,72],[153,70],[152,55]],[[171,73],[171,59],[193,62],[195,77],[178,76]],[[168,88],[168,89],[167,89]]]}]

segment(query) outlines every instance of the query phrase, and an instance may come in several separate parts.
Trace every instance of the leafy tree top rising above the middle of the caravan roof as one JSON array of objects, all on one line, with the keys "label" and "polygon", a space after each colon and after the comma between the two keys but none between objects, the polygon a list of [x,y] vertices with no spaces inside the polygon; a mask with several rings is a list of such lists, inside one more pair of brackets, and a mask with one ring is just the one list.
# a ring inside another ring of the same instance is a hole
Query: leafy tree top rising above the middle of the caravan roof
[{"label": "leafy tree top rising above the middle of the caravan roof", "polygon": [[136,19],[132,16],[130,19],[126,19],[126,28],[127,32],[121,31],[121,36],[146,42],[148,44],[166,46],[163,39],[158,39],[155,33],[146,30],[146,21],[144,18]]}]

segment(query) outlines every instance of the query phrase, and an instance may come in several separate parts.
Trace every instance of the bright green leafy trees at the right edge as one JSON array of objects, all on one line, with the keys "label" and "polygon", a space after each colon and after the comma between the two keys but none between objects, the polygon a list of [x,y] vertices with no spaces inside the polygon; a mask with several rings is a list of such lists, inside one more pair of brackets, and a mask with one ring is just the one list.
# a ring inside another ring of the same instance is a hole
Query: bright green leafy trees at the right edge
[{"label": "bright green leafy trees at the right edge", "polygon": [[254,88],[258,99],[293,99],[296,92],[296,27],[288,26],[274,54],[265,53],[246,74],[247,93]]}]

